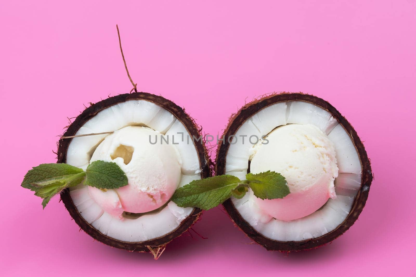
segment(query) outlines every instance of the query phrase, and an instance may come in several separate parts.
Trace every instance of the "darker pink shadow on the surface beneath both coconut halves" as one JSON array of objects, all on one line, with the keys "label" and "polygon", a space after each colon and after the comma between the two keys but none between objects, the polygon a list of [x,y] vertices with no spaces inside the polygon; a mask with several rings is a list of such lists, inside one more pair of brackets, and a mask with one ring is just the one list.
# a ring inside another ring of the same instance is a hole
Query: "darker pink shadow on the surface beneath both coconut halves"
[{"label": "darker pink shadow on the surface beneath both coconut halves", "polygon": [[[267,251],[235,227],[223,207],[218,206],[209,211],[204,211],[201,219],[192,226],[192,229],[188,229],[180,237],[168,243],[166,250],[157,262],[162,264],[165,262],[179,262],[187,258],[201,256],[201,252],[205,253],[203,255],[211,255],[210,253],[218,253],[219,249],[239,249],[247,253],[251,252],[253,255],[261,255],[267,260],[278,259],[293,265],[312,264],[323,259],[330,261],[342,257],[344,252],[348,251],[348,248],[355,247],[354,245],[360,242],[360,240],[355,241],[356,236],[353,233],[355,232],[349,230],[347,235],[343,235],[333,242],[316,249],[289,253]],[[114,255],[117,259],[121,258],[124,261],[147,262],[153,260],[153,255],[150,253],[131,253],[126,250],[110,248],[97,241],[94,242],[94,245],[100,247],[100,251],[108,251],[108,255]],[[358,247],[358,245],[356,246]]]}]

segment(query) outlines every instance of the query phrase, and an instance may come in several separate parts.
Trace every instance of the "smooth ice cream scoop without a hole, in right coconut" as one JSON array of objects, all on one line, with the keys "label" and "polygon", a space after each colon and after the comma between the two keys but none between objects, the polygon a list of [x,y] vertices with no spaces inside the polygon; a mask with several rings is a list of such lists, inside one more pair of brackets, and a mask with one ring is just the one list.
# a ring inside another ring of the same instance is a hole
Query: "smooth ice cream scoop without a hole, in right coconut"
[{"label": "smooth ice cream scoop without a hole, in right coconut", "polygon": [[290,189],[283,199],[255,201],[265,213],[284,220],[308,216],[335,198],[338,176],[335,148],[315,125],[283,125],[253,147],[250,172],[282,174]]}]

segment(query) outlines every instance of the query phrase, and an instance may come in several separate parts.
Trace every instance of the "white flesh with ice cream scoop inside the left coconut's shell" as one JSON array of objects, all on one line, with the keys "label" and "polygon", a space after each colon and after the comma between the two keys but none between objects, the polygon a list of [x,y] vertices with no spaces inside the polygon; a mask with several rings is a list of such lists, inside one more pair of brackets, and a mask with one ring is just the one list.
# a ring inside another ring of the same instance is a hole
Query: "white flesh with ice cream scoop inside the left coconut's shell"
[{"label": "white flesh with ice cream scoop inside the left coconut's shell", "polygon": [[106,191],[83,184],[71,188],[82,218],[103,235],[125,242],[152,240],[178,228],[193,208],[169,199],[178,187],[201,179],[198,153],[183,123],[155,103],[129,100],[101,110],[75,135],[99,132],[114,133],[74,137],[66,163],[85,170],[94,160],[115,162],[129,184]]}]

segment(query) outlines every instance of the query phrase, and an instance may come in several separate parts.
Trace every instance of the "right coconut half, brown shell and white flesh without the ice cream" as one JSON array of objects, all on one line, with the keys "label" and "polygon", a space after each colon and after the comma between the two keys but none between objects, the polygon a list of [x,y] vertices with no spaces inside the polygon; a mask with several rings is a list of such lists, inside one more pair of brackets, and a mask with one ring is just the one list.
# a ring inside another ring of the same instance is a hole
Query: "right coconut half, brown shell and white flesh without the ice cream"
[{"label": "right coconut half, brown shell and white flesh without the ice cream", "polygon": [[[317,211],[294,220],[279,220],[265,213],[249,191],[242,199],[223,203],[235,224],[267,250],[305,250],[329,243],[357,220],[366,203],[372,172],[367,153],[352,125],[327,101],[303,93],[280,93],[244,105],[230,118],[218,143],[215,173],[245,179],[253,159],[254,137],[266,137],[279,126],[314,125],[335,150],[336,197]],[[230,137],[253,136],[253,142]],[[283,174],[284,176],[284,174]]]}]

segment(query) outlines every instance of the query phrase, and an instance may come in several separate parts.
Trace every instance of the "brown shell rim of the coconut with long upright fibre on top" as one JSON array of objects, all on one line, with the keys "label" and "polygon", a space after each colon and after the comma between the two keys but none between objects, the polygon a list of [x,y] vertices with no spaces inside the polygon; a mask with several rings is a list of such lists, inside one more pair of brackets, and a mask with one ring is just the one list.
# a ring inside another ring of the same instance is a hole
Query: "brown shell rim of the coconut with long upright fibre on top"
[{"label": "brown shell rim of the coconut with long upright fibre on top", "polygon": [[[72,122],[67,127],[67,130],[64,132],[64,136],[75,135],[75,133],[79,130],[80,127],[82,127],[82,125],[84,125],[84,123],[87,122],[87,120],[97,115],[97,113],[99,113],[101,110],[129,100],[146,100],[155,103],[156,105],[165,108],[173,115],[175,115],[176,118],[183,123],[183,125],[186,127],[186,130],[188,130],[191,136],[195,135],[196,137],[198,137],[201,135],[202,128],[199,127],[196,124],[195,120],[191,118],[180,106],[176,105],[175,103],[166,98],[163,98],[162,96],[157,96],[151,93],[134,92],[119,94],[116,96],[106,98],[95,104],[91,104],[80,115],[77,116],[74,122]],[[57,163],[62,163],[66,161],[66,153],[71,141],[72,138],[59,140],[57,151]],[[208,157],[208,151],[206,150],[206,146],[205,143],[203,143],[203,140],[201,140],[201,143],[196,143],[195,146],[198,153],[198,159],[201,168],[201,178],[206,178],[210,176],[210,159]],[[205,164],[203,163],[204,161]],[[198,221],[198,218],[201,216],[202,213],[201,209],[194,208],[192,213],[186,219],[184,219],[176,229],[161,237],[143,242],[125,242],[121,240],[116,240],[114,238],[110,238],[109,236],[102,234],[91,224],[87,223],[87,221],[85,221],[84,218],[82,218],[82,216],[79,214],[77,208],[72,202],[71,196],[69,195],[69,189],[65,189],[64,191],[62,191],[60,196],[70,216],[74,219],[78,226],[82,230],[84,230],[84,232],[86,232],[88,235],[94,238],[94,240],[98,240],[99,242],[109,245],[111,247],[120,248],[131,252],[150,252],[148,246],[150,246],[151,248],[165,247],[166,244],[171,242],[171,240],[177,238],[182,233],[186,232],[189,228],[191,228],[191,226],[196,221]]]}]

